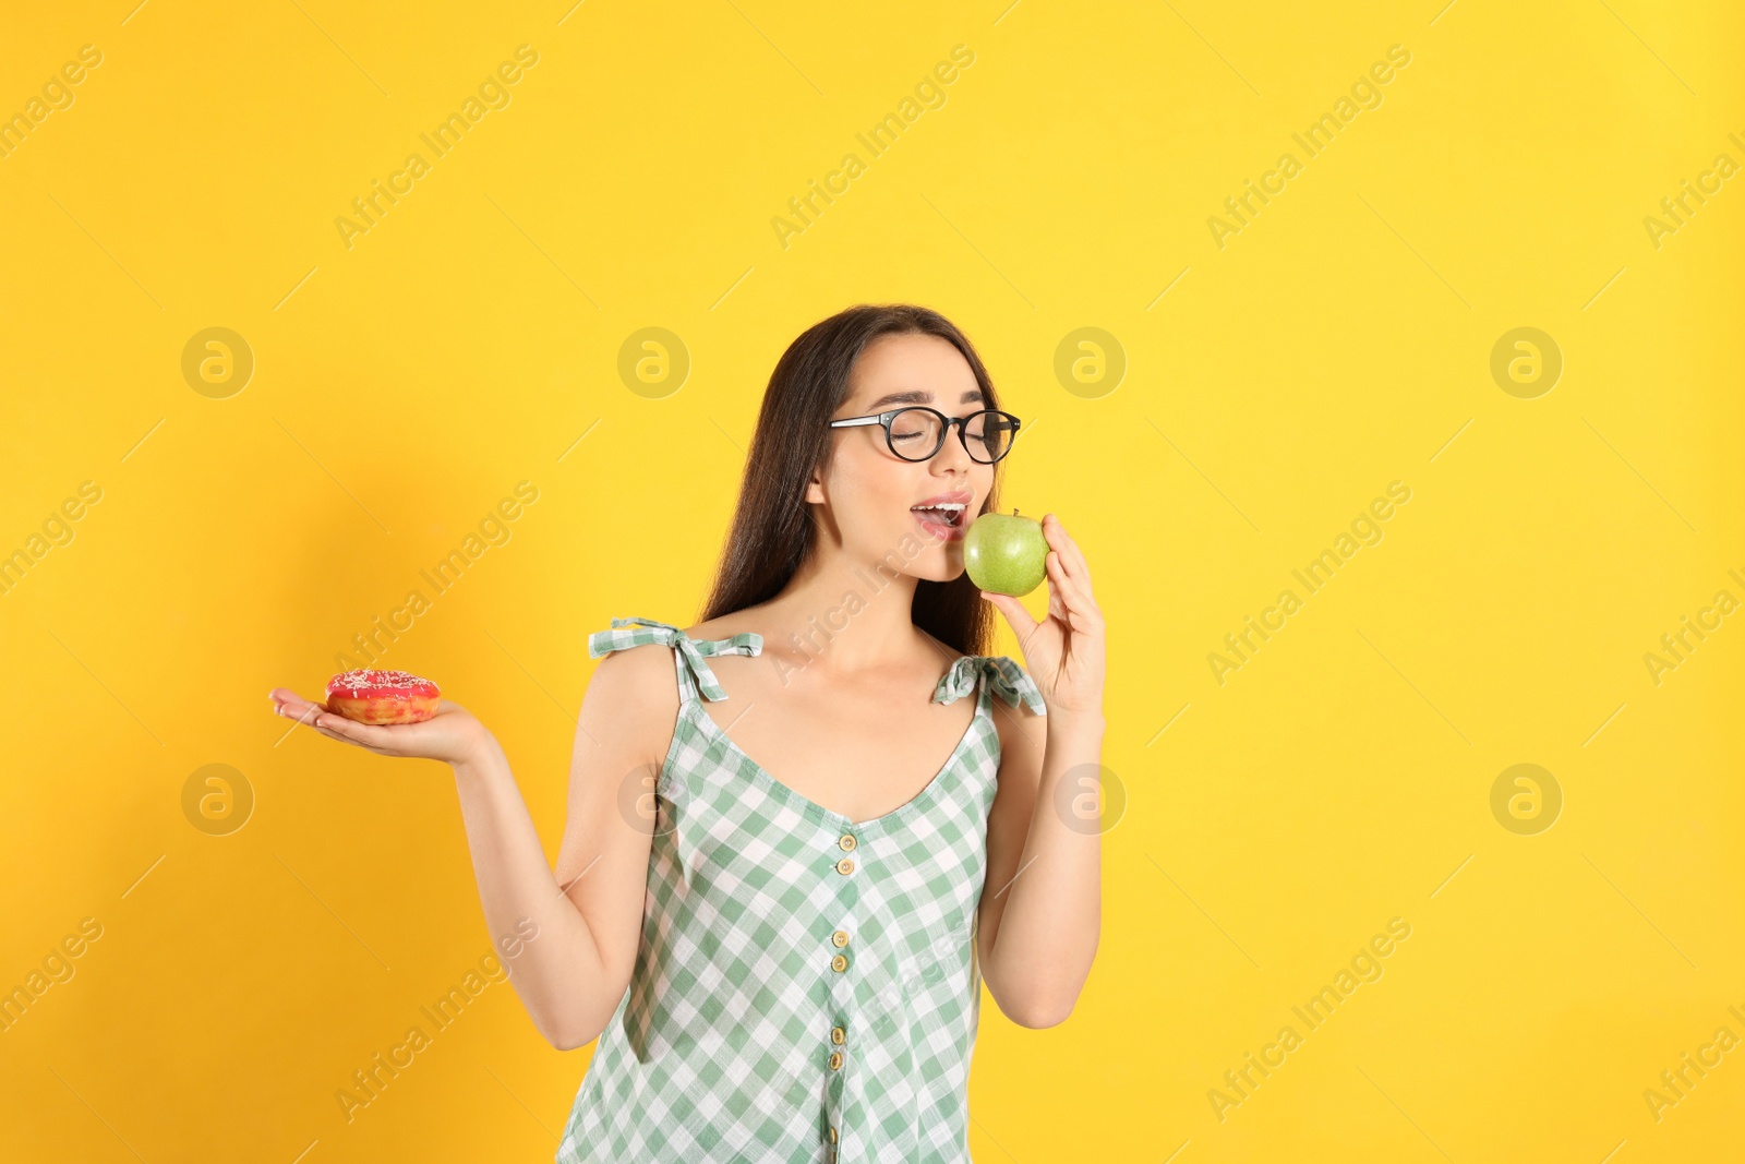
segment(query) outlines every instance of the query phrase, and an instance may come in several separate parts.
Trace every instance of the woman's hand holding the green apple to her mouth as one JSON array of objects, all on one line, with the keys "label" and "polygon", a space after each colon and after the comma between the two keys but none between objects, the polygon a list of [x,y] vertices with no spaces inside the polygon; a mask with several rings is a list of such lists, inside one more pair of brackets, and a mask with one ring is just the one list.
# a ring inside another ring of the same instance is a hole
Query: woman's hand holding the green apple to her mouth
[{"label": "woman's hand holding the green apple to her mouth", "polygon": [[1091,567],[1078,543],[1052,513],[1042,517],[1049,541],[1049,613],[1040,623],[1012,595],[982,590],[1017,632],[1024,670],[1049,710],[1103,714],[1103,611],[1091,593]]}]

